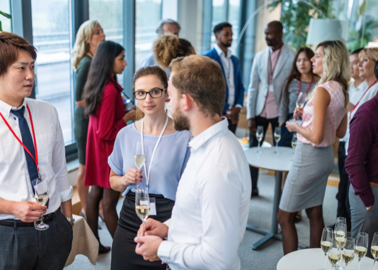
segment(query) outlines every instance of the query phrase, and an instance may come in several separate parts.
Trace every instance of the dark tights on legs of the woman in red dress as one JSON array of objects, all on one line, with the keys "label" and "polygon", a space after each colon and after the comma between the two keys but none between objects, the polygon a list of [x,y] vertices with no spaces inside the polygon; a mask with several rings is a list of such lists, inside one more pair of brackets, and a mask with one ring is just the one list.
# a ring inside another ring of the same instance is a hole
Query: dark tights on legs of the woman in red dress
[{"label": "dark tights on legs of the woman in red dress", "polygon": [[98,207],[102,199],[102,206],[104,209],[104,220],[106,227],[108,228],[112,237],[114,237],[115,229],[117,228],[118,215],[115,210],[119,199],[119,192],[114,191],[111,188],[105,188],[100,186],[92,186],[91,191],[88,195],[87,201],[87,222],[92,232],[96,236],[98,242],[100,238],[98,237]]}]

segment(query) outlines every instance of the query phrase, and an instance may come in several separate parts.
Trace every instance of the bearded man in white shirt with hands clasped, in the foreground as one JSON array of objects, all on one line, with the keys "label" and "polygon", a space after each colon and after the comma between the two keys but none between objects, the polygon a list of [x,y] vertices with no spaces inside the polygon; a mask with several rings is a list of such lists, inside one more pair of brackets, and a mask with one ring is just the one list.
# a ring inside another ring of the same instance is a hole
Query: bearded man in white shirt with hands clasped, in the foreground
[{"label": "bearded man in white shirt with hands clasped, in the foreground", "polygon": [[172,116],[177,130],[193,135],[190,158],[171,219],[147,219],[135,251],[146,260],[160,258],[171,270],[239,270],[251,180],[243,149],[222,118],[222,70],[208,57],[191,55],[173,60],[170,71]]}]

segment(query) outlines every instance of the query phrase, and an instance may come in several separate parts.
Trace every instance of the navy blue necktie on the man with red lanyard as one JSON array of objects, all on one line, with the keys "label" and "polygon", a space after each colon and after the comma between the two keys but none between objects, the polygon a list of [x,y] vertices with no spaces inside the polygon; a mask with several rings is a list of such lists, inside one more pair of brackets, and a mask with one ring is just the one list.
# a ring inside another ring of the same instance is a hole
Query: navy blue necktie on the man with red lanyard
[{"label": "navy blue necktie on the man with red lanyard", "polygon": [[[30,133],[30,129],[26,119],[24,118],[25,106],[22,106],[21,109],[14,111],[11,110],[11,113],[19,118],[19,131],[21,132],[22,143],[26,146],[29,152],[36,158],[36,152],[33,144],[33,137]],[[28,165],[28,171],[30,176],[30,181],[32,182],[33,193],[35,193],[34,186],[36,185],[36,179],[38,178],[38,171],[36,162],[30,156],[28,152],[24,149],[26,156],[26,163]]]}]

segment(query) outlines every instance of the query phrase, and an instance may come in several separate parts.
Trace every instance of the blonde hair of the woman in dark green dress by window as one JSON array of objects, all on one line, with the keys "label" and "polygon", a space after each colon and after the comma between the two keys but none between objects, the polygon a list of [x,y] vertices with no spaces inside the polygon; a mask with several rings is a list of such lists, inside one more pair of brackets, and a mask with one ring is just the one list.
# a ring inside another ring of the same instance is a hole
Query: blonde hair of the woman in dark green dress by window
[{"label": "blonde hair of the woman in dark green dress by window", "polygon": [[97,20],[87,20],[83,22],[82,25],[80,25],[79,30],[77,31],[75,45],[72,50],[73,65],[75,71],[80,63],[81,58],[89,51],[90,45],[86,41],[91,39],[97,25],[99,25]]}]

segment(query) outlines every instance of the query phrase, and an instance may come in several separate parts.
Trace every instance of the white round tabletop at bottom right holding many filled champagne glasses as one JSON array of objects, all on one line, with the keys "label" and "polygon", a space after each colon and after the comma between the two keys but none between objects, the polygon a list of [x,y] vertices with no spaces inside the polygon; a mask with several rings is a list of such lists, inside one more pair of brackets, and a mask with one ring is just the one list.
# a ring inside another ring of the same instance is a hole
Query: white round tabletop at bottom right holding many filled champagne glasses
[{"label": "white round tabletop at bottom right holding many filled champagne glasses", "polygon": [[[370,249],[369,251],[370,252]],[[289,253],[281,258],[277,264],[277,270],[319,270],[324,266],[324,253],[321,249],[306,249]],[[374,260],[368,257],[361,259],[360,270],[373,270]],[[345,263],[341,262],[340,266],[345,269]],[[359,259],[355,255],[354,260],[348,265],[348,270],[358,270]],[[328,258],[325,262],[325,270],[332,270]]]}]

